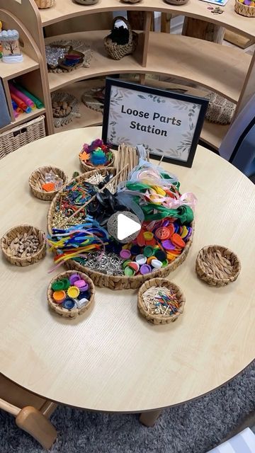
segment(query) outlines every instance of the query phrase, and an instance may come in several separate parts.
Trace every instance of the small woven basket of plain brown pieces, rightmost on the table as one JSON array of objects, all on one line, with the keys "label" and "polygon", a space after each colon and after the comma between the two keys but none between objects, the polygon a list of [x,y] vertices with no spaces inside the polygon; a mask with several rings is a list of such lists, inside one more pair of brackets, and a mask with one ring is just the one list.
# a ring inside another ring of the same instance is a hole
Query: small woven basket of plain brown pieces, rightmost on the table
[{"label": "small woven basket of plain brown pieces, rightmost on the table", "polygon": [[211,286],[225,286],[234,282],[241,263],[234,252],[222,246],[201,248],[196,259],[196,273]]}]

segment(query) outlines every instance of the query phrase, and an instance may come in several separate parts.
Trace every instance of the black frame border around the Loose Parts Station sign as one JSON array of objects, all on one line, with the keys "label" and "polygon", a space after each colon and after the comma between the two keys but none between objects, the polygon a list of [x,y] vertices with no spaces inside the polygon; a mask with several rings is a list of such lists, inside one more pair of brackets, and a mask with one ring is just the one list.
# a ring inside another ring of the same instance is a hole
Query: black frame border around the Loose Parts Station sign
[{"label": "black frame border around the Loose Parts Station sign", "polygon": [[[196,121],[195,127],[193,127],[194,133],[191,141],[190,148],[188,150],[188,159],[181,160],[174,157],[164,156],[164,161],[171,164],[191,167],[193,164],[193,159],[196,153],[196,148],[198,146],[198,140],[200,138],[200,132],[203,127],[203,122],[205,120],[205,113],[208,108],[208,99],[198,98],[197,96],[189,96],[186,94],[175,93],[174,91],[164,90],[161,88],[152,88],[150,86],[136,84],[134,82],[122,81],[120,79],[113,79],[111,77],[106,78],[106,91],[105,91],[105,101],[103,109],[103,129],[102,129],[102,139],[103,142],[110,142],[113,149],[118,149],[120,143],[114,143],[112,140],[109,140],[108,137],[108,127],[109,127],[109,115],[111,108],[111,89],[113,86],[118,88],[128,88],[128,90],[137,91],[140,93],[149,93],[152,96],[159,96],[160,98],[171,98],[176,101],[184,101],[193,105],[200,105],[200,110],[198,113],[198,118]],[[163,101],[165,102],[165,101]],[[171,119],[171,118],[170,118]],[[174,118],[175,120],[176,118]],[[128,118],[130,120],[130,118]],[[128,127],[127,127],[128,129]],[[157,129],[158,130],[158,129]],[[163,131],[166,132],[166,131]],[[140,143],[137,143],[140,144]],[[149,156],[152,159],[162,160],[162,155],[154,153],[152,149],[149,150]]]}]

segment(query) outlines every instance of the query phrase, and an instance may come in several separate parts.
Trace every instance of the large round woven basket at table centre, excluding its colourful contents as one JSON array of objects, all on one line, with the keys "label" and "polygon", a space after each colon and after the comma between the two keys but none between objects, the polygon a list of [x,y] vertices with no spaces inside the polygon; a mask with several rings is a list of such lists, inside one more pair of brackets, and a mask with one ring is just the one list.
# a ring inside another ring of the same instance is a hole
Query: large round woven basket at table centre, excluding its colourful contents
[{"label": "large round woven basket at table centre, excluding its colourful contents", "polygon": [[[115,168],[104,168],[100,171],[103,174],[106,174],[107,171],[111,171],[113,174],[115,174],[116,169]],[[88,180],[91,176],[94,176],[94,174],[99,171],[90,171],[87,173],[83,173],[81,176],[78,176],[74,180],[77,182],[81,182],[84,180]],[[57,202],[60,200],[61,193],[57,193],[55,196],[54,200],[52,200],[51,205],[50,205],[50,210],[47,215],[47,230],[49,234],[52,234],[52,217],[55,212],[55,207],[57,205]],[[169,275],[169,273],[173,272],[178,268],[181,263],[186,259],[186,256],[188,255],[188,251],[191,248],[191,243],[193,241],[193,234],[194,234],[194,222],[192,223],[193,226],[193,231],[186,243],[186,247],[183,249],[183,252],[181,255],[179,255],[174,261],[169,263],[165,268],[161,268],[159,270],[155,270],[152,273],[146,274],[146,275],[135,275],[134,277],[127,277],[125,275],[106,275],[103,273],[96,272],[95,270],[91,270],[89,268],[86,268],[84,265],[81,265],[77,263],[74,260],[67,260],[64,265],[66,266],[67,269],[70,270],[79,270],[82,273],[86,273],[91,277],[91,280],[93,280],[94,284],[98,287],[108,287],[110,289],[136,289],[140,288],[140,286],[146,281],[150,280],[151,278],[156,278],[156,277],[166,277]]]}]

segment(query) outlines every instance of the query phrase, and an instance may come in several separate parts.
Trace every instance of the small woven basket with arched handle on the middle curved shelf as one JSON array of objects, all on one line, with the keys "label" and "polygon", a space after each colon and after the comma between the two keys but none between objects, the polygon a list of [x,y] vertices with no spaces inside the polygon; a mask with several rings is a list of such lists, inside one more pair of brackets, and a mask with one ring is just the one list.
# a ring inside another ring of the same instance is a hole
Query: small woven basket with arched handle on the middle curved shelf
[{"label": "small woven basket with arched handle on the middle curved shelf", "polygon": [[109,35],[104,38],[103,43],[104,47],[106,49],[106,52],[108,52],[108,55],[110,55],[111,58],[113,59],[121,59],[125,57],[125,55],[132,54],[135,52],[135,49],[137,47],[137,42],[138,42],[138,35],[135,33],[135,31],[132,31],[132,28],[130,26],[130,23],[127,21],[125,17],[115,17],[113,20],[113,27],[116,23],[116,21],[123,21],[128,27],[128,32],[129,32],[129,39],[128,39],[128,44],[117,44],[117,42],[113,42],[111,38],[109,38]]}]

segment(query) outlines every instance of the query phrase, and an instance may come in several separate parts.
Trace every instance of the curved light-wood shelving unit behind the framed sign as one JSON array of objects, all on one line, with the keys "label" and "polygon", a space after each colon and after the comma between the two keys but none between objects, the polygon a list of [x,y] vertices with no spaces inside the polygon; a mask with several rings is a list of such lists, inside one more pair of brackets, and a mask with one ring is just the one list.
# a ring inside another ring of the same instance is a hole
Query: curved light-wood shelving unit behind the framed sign
[{"label": "curved light-wood shelving unit behind the framed sign", "polygon": [[[5,0],[0,0],[0,8],[4,8]],[[85,81],[98,76],[108,74],[159,74],[175,79],[192,81],[199,86],[216,91],[222,96],[237,104],[237,115],[255,91],[255,55],[251,57],[244,52],[216,44],[215,42],[201,41],[187,36],[169,35],[166,33],[154,33],[150,31],[152,13],[159,11],[215,23],[222,27],[244,35],[247,38],[255,38],[254,21],[234,12],[234,0],[229,0],[224,7],[224,13],[213,15],[208,10],[208,4],[198,0],[189,0],[186,5],[174,6],[166,4],[163,0],[143,0],[139,4],[123,5],[119,0],[99,0],[93,6],[82,6],[72,0],[56,0],[52,8],[41,9],[35,6],[33,0],[9,0],[5,8],[18,16],[23,23],[28,24],[28,30],[42,55],[40,69],[44,72],[46,83],[45,91],[47,101],[50,102],[50,92],[67,90],[69,93],[77,93],[81,84],[77,81]],[[51,38],[43,38],[43,29],[48,25],[61,23],[67,19],[84,16],[84,21],[89,21],[89,16],[95,13],[109,11],[144,11],[145,28],[140,32],[140,45],[134,55],[125,57],[119,61],[110,59],[103,47],[103,38],[108,30],[94,30],[83,33],[57,35]],[[88,17],[87,17],[88,16]],[[60,39],[86,40],[91,44],[93,57],[89,68],[62,74],[47,74],[45,62],[45,43]],[[36,60],[35,60],[36,62]],[[32,64],[32,63],[31,63]],[[29,64],[27,65],[27,68]],[[33,69],[30,69],[33,71]],[[82,89],[82,88],[81,88]],[[51,122],[50,130],[53,132],[53,120],[51,106],[46,105],[45,111],[48,121]],[[65,128],[95,125],[100,122],[98,114],[82,107],[82,115],[79,120],[70,123]],[[222,138],[227,132],[227,126],[206,123],[203,127],[201,138],[217,149]],[[63,130],[61,128],[61,130]]]}]

